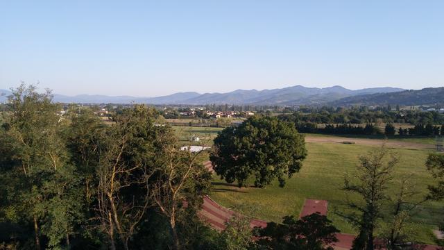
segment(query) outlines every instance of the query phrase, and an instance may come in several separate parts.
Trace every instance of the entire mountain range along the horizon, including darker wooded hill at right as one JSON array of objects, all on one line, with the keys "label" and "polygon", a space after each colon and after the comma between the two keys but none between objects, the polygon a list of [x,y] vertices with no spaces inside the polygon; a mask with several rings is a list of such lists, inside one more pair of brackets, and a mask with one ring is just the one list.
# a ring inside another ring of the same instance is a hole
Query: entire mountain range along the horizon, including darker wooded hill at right
[{"label": "entire mountain range along the horizon, including darker wooded hill at right", "polygon": [[[0,90],[0,102],[6,102],[8,90]],[[341,86],[307,88],[296,85],[272,90],[234,90],[227,93],[179,92],[162,97],[130,97],[80,94],[54,94],[61,103],[149,103],[149,104],[250,104],[250,105],[421,105],[444,103],[443,88],[403,90],[401,88],[366,88],[348,90]]]}]

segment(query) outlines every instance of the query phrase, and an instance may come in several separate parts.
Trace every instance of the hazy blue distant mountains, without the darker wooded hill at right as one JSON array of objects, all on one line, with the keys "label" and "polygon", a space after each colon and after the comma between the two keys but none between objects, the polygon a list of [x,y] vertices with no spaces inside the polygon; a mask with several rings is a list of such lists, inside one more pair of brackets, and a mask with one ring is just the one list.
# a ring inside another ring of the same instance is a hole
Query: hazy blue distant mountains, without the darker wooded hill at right
[{"label": "hazy blue distant mountains, without the darker wooded hill at right", "polygon": [[[400,88],[366,88],[348,90],[341,86],[329,88],[306,88],[296,85],[288,88],[272,90],[234,90],[227,93],[179,92],[163,97],[130,97],[80,94],[69,97],[54,94],[54,101],[62,103],[149,103],[149,104],[252,104],[252,105],[301,105],[322,104],[338,101],[345,97],[364,94],[400,92]],[[3,94],[2,94],[3,93]],[[8,90],[0,90],[0,102],[5,102],[10,94]]]}]

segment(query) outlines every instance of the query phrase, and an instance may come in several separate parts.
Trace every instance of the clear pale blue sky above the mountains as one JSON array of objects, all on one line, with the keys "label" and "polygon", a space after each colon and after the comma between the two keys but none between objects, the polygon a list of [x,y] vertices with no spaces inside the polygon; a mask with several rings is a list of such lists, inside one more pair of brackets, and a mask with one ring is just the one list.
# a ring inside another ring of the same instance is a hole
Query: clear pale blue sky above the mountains
[{"label": "clear pale blue sky above the mountains", "polygon": [[0,1],[0,89],[444,86],[444,1]]}]

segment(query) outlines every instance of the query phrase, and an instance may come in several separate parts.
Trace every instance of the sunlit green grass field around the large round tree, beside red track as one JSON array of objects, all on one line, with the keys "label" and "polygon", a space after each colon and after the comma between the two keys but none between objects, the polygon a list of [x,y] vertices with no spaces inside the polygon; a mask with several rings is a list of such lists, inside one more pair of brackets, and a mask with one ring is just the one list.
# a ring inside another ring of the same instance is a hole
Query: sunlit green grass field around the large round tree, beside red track
[{"label": "sunlit green grass field around the large round tree, beside red track", "polygon": [[[345,201],[358,200],[357,196],[347,196],[341,190],[345,174],[353,176],[358,157],[375,149],[372,146],[358,144],[307,143],[308,157],[299,174],[287,181],[284,188],[278,183],[264,189],[237,188],[214,176],[212,199],[226,207],[240,204],[253,204],[257,209],[253,216],[280,222],[284,215],[298,216],[305,199],[325,199],[329,202],[328,217],[343,233],[356,233],[337,212],[346,212]],[[417,183],[416,188],[427,192],[427,184],[432,178],[425,168],[425,159],[429,151],[425,149],[393,149],[401,157],[395,170],[395,176],[409,175]],[[396,185],[389,192],[394,194]],[[436,228],[438,219],[444,217],[444,203],[426,203],[418,211],[411,226],[416,227],[416,240],[433,244],[432,229]]]}]

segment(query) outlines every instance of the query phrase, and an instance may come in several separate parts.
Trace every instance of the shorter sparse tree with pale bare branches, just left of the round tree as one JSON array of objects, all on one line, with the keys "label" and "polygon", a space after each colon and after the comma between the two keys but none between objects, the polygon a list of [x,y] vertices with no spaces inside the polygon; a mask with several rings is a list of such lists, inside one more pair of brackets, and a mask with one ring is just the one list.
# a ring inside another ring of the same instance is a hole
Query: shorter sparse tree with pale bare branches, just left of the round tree
[{"label": "shorter sparse tree with pale bare branches, just left of the round tree", "polygon": [[174,145],[164,144],[162,162],[154,173],[153,201],[169,221],[173,249],[182,249],[178,223],[183,222],[187,211],[194,213],[210,190],[211,173],[202,164],[199,153],[180,151]]}]

